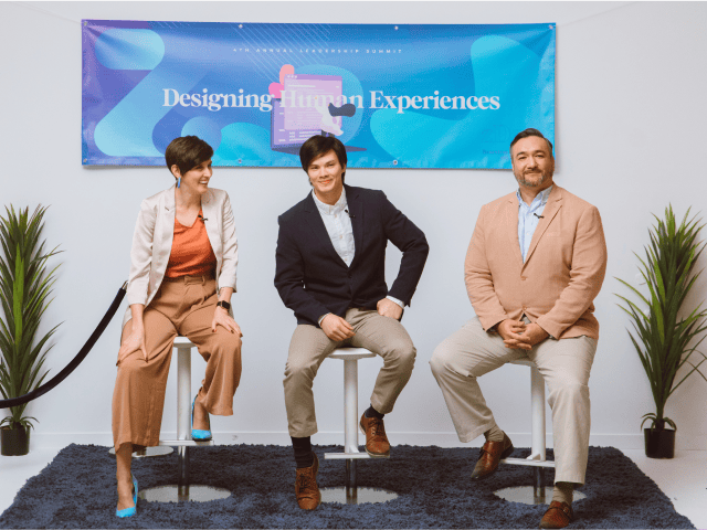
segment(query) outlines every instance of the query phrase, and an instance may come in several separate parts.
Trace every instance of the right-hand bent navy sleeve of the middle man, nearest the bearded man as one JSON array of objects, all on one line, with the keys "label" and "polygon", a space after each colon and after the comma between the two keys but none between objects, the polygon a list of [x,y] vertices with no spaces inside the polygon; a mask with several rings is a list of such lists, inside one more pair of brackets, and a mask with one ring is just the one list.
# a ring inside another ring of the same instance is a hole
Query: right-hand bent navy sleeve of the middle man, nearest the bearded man
[{"label": "right-hand bent navy sleeve of the middle man, nearest the bearded man", "polygon": [[404,305],[410,305],[412,295],[418,288],[424,264],[430,253],[430,245],[424,233],[398,210],[381,191],[381,221],[388,240],[402,252],[400,269],[388,295]]}]

